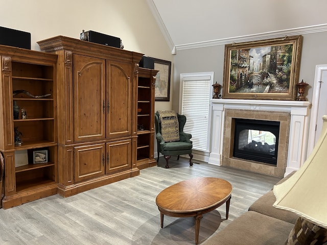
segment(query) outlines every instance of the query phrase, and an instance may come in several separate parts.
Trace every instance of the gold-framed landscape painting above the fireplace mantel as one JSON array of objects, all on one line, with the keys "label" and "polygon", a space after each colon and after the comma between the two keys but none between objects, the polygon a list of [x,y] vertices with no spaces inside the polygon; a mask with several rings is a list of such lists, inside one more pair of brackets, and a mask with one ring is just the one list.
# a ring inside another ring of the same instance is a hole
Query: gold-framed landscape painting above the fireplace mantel
[{"label": "gold-framed landscape painting above the fireplace mantel", "polygon": [[223,99],[295,100],[302,36],[225,45]]}]

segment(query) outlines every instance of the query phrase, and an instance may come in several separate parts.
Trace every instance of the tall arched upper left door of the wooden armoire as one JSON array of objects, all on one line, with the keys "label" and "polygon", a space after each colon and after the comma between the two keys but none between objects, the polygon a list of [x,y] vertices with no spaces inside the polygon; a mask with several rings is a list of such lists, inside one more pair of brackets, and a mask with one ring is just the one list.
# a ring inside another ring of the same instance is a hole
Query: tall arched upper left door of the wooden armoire
[{"label": "tall arched upper left door of the wooden armoire", "polygon": [[105,60],[74,55],[74,140],[105,137]]}]

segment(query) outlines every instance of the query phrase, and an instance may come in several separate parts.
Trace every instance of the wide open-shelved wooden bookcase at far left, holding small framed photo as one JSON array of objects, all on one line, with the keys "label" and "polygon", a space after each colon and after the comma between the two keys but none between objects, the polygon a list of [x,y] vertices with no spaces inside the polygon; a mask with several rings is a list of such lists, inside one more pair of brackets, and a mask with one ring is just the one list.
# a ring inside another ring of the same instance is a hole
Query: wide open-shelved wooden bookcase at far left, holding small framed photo
[{"label": "wide open-shelved wooden bookcase at far left, holding small framed photo", "polygon": [[[57,193],[57,55],[0,45],[0,62],[2,205],[10,208]],[[26,115],[14,116],[14,105]]]}]

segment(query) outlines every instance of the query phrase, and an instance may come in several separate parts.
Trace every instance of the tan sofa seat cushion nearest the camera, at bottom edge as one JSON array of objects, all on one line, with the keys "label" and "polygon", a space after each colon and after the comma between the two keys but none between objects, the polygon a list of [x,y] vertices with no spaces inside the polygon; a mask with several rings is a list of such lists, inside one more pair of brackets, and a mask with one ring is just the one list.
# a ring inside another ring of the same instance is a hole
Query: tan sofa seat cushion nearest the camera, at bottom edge
[{"label": "tan sofa seat cushion nearest the camera, at bottom edge", "polygon": [[294,225],[283,220],[248,211],[226,228],[213,234],[204,245],[278,245],[284,244]]}]

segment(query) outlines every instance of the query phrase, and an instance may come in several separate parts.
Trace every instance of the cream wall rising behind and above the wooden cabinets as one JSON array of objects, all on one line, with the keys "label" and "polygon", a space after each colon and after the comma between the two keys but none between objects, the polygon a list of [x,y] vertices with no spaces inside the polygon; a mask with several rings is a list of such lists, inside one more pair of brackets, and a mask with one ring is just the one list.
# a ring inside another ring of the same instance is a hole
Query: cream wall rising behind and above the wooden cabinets
[{"label": "cream wall rising behind and above the wooden cabinets", "polygon": [[[30,32],[32,50],[39,50],[39,40],[57,35],[79,38],[84,29],[120,37],[125,50],[173,61],[146,0],[6,1],[0,20],[3,27]],[[171,101],[156,102],[155,107],[170,109]]]}]

